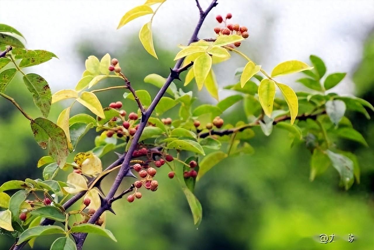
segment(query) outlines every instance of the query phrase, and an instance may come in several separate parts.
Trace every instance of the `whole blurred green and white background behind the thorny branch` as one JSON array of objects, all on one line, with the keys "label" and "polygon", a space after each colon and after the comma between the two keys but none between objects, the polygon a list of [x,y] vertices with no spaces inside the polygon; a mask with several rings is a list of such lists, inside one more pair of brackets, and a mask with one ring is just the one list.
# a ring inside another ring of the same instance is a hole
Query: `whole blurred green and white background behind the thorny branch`
[{"label": "whole blurred green and white background behind the thorny branch", "polygon": [[[207,0],[200,2],[203,7],[209,4]],[[240,49],[265,70],[290,59],[309,62],[309,55],[315,54],[325,61],[328,73],[348,72],[344,81],[331,91],[356,94],[373,104],[373,1],[218,2],[199,37],[212,37],[217,25],[215,15],[231,12],[232,22],[249,29],[250,37]],[[122,15],[141,3],[2,0],[0,23],[21,31],[28,48],[46,49],[59,57],[27,69],[42,75],[52,93],[76,85],[88,55],[101,58],[108,52],[119,59],[135,88],[145,88],[154,97],[157,89],[142,80],[150,73],[168,75],[178,51],[176,45],[187,43],[198,11],[192,0],[168,0],[163,4],[153,22],[157,61],[138,40],[138,30],[149,19],[147,16],[116,30]],[[244,65],[245,61],[233,55],[216,66],[220,88],[235,83],[234,70]],[[294,82],[297,76],[284,79],[294,89],[303,90]],[[117,84],[103,81],[98,88]],[[204,90],[197,93],[192,84],[186,90],[193,90],[200,103],[215,103]],[[119,92],[100,93],[103,106],[122,100]],[[13,79],[7,94],[33,117],[39,115],[20,76]],[[222,90],[220,98],[230,94],[233,93]],[[133,103],[124,103],[126,110],[135,110]],[[68,104],[53,105],[49,118],[56,120]],[[88,111],[76,105],[74,112]],[[176,117],[177,110],[171,109],[165,115]],[[278,129],[269,137],[254,129],[256,136],[249,141],[255,148],[254,154],[224,160],[197,183],[196,196],[203,207],[199,228],[193,225],[177,181],[169,180],[168,169],[161,168],[156,193],[144,193],[133,204],[121,200],[114,205],[117,216],[108,214],[107,228],[118,243],[89,235],[85,249],[374,249],[374,123],[362,114],[346,115],[369,144],[367,148],[349,141],[339,144],[357,154],[361,166],[361,183],[350,190],[338,188],[339,177],[332,167],[310,182],[310,152],[303,145],[291,148],[287,133]],[[241,103],[222,117],[233,124],[246,119]],[[93,131],[88,133],[77,151],[90,150],[95,136]],[[36,168],[36,162],[44,154],[25,118],[10,102],[0,100],[0,184],[11,179],[39,178],[42,169]],[[114,153],[105,155],[103,165],[115,158]],[[58,178],[65,176],[61,172]],[[105,180],[104,191],[113,178]],[[128,186],[126,182],[129,183],[126,180],[124,187]],[[335,241],[321,244],[319,234],[335,234]],[[348,243],[348,234],[355,235],[353,243]],[[53,238],[40,237],[35,249],[49,249],[52,241]],[[8,249],[12,243],[12,239],[0,235],[0,249]]]}]

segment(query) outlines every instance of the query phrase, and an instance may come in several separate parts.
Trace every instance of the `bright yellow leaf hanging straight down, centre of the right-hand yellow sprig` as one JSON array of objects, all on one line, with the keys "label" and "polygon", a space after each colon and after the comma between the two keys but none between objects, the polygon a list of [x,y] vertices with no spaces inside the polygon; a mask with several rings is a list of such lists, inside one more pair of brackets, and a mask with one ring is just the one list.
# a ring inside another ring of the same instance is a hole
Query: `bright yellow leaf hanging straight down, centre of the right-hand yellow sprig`
[{"label": "bright yellow leaf hanging straight down, centre of the right-hand yellow sprig", "polygon": [[263,79],[258,85],[258,100],[265,114],[270,117],[273,111],[275,98],[275,82],[270,79]]}]

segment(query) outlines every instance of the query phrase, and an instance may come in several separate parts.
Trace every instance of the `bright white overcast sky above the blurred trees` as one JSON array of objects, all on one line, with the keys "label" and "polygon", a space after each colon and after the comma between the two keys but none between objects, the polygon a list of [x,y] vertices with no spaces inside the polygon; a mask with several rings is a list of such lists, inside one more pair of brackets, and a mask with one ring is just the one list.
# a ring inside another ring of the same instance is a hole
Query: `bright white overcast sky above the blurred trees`
[{"label": "bright white overcast sky above the blurred trees", "polygon": [[[52,91],[72,88],[79,81],[84,62],[75,58],[77,40],[89,39],[93,46],[115,46],[126,34],[138,33],[149,20],[143,16],[116,30],[123,14],[143,1],[10,1],[0,0],[0,23],[11,25],[27,38],[27,48],[46,49],[60,60],[33,67],[50,83]],[[200,0],[208,6],[209,0]],[[233,14],[232,22],[249,29],[250,37],[240,47],[263,68],[270,71],[285,60],[309,61],[309,54],[322,57],[328,72],[352,73],[361,60],[362,41],[374,27],[374,1],[245,1],[218,0],[206,19],[200,38],[212,37],[217,25],[215,15]],[[153,21],[154,38],[177,52],[177,44],[186,43],[197,22],[194,0],[167,0]],[[270,19],[270,22],[269,22]],[[271,21],[273,20],[273,21]],[[157,36],[160,34],[160,36]],[[260,58],[261,61],[256,59]],[[218,66],[219,85],[233,83],[233,72],[244,61]],[[172,65],[171,65],[172,66]],[[285,77],[286,84],[295,78]],[[350,93],[350,77],[337,89]]]}]

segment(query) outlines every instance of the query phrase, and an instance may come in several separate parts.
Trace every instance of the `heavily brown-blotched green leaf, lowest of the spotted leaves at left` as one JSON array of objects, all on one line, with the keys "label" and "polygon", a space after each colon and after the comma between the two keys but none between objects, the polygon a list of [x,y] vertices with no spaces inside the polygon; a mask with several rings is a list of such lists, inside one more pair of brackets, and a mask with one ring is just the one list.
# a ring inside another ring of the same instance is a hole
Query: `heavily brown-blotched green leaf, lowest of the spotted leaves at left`
[{"label": "heavily brown-blotched green leaf, lowest of the spotted leaves at left", "polygon": [[40,147],[46,149],[49,146],[49,155],[56,160],[60,168],[64,166],[69,154],[64,130],[43,117],[31,122],[31,130]]}]

